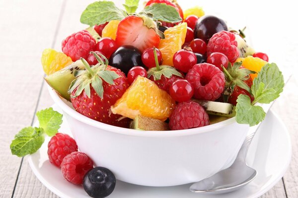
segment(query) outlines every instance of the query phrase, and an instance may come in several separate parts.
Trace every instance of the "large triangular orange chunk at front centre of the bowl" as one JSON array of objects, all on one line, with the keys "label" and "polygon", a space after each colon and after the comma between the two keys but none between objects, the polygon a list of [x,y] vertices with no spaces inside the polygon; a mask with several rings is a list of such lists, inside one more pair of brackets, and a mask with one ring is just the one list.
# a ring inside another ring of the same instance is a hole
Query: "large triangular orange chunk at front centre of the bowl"
[{"label": "large triangular orange chunk at front centre of the bowl", "polygon": [[138,76],[111,110],[114,114],[131,119],[142,115],[164,121],[171,115],[175,105],[170,95],[159,89],[154,82]]}]

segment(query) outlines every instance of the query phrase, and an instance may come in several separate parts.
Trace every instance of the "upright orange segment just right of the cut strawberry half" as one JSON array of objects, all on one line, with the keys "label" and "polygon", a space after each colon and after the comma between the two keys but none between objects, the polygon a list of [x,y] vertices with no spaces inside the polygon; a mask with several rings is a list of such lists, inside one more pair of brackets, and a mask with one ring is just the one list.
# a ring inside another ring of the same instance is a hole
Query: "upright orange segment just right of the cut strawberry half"
[{"label": "upright orange segment just right of the cut strawberry half", "polygon": [[180,23],[164,31],[165,39],[161,39],[158,49],[162,53],[163,65],[173,66],[173,55],[184,44],[187,23]]}]

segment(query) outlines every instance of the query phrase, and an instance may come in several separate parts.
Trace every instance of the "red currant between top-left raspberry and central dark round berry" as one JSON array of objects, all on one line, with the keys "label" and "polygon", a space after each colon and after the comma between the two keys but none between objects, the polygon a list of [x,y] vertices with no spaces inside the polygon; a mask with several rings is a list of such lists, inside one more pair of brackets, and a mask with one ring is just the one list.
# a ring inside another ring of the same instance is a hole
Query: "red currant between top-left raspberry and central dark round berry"
[{"label": "red currant between top-left raspberry and central dark round berry", "polygon": [[111,38],[102,38],[95,45],[95,50],[100,51],[103,55],[109,59],[112,53],[114,53],[118,49],[118,45]]}]

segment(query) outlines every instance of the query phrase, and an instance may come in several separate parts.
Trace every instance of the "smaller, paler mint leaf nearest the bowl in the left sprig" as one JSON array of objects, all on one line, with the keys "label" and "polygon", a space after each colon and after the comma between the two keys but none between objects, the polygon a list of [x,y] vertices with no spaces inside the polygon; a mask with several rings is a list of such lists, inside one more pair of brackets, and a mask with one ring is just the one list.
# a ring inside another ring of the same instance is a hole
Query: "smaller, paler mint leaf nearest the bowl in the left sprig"
[{"label": "smaller, paler mint leaf nearest the bowl in the left sprig", "polygon": [[48,136],[54,136],[62,124],[63,115],[54,111],[52,107],[38,111],[36,116],[39,121],[39,127],[44,130]]}]

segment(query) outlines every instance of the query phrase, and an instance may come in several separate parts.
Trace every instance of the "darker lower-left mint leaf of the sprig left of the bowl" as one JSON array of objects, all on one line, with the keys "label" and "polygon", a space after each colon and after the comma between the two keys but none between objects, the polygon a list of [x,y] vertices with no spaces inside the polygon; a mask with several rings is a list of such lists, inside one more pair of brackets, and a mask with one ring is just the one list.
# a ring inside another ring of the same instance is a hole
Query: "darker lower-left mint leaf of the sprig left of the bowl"
[{"label": "darker lower-left mint leaf of the sprig left of the bowl", "polygon": [[44,141],[43,129],[26,127],[14,136],[14,140],[10,144],[10,150],[12,154],[23,157],[36,152]]}]

